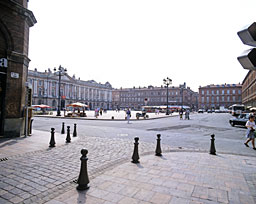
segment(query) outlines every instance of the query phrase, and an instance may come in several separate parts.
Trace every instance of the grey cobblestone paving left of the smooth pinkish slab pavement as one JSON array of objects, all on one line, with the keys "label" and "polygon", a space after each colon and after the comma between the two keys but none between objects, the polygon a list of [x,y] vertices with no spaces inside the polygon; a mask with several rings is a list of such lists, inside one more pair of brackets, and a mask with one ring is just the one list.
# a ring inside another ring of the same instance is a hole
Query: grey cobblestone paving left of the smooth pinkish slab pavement
[{"label": "grey cobblestone paving left of the smooth pinkish slab pavement", "polygon": [[[70,183],[77,179],[82,148],[87,148],[89,151],[89,174],[94,175],[129,160],[133,151],[133,142],[86,137],[55,148],[8,157],[8,160],[0,163],[0,201],[3,203],[7,200],[11,203],[48,201],[69,189]],[[141,154],[155,150],[154,144],[139,145]],[[169,148],[166,146],[164,149]]]}]

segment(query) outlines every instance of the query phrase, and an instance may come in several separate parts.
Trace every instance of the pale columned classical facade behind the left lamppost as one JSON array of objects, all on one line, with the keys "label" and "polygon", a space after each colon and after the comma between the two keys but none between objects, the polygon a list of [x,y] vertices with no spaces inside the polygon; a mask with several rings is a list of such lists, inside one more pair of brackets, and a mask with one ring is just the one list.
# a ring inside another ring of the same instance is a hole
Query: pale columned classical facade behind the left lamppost
[{"label": "pale columned classical facade behind the left lamppost", "polygon": [[[45,104],[52,108],[58,107],[59,76],[56,72],[51,69],[45,72],[39,72],[37,69],[29,70],[28,82],[32,85],[33,105]],[[83,81],[67,73],[61,76],[60,82],[61,109],[74,102],[85,103],[90,109],[111,109],[112,86],[110,83]]]}]

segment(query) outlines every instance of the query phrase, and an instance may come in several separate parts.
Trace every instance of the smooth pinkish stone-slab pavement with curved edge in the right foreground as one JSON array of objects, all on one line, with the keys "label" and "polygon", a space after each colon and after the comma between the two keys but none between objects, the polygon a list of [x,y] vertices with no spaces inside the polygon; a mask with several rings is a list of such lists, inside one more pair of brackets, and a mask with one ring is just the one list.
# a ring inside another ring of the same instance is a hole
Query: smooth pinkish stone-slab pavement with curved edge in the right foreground
[{"label": "smooth pinkish stone-slab pavement with curved edge in the right foreground", "polygon": [[253,204],[251,176],[256,158],[171,152],[144,156],[91,180],[87,191],[69,192],[47,204]]}]

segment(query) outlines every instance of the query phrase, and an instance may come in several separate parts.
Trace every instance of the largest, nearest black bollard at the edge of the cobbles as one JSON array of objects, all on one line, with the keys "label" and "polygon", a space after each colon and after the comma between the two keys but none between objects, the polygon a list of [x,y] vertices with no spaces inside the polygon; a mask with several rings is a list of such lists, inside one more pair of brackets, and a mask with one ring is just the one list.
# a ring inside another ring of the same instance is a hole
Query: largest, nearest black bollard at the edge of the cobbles
[{"label": "largest, nearest black bollard at the edge of the cobbles", "polygon": [[89,177],[87,173],[87,154],[88,150],[87,149],[82,149],[81,150],[81,169],[80,169],[80,174],[77,180],[78,186],[76,187],[77,190],[86,190],[89,188]]}]

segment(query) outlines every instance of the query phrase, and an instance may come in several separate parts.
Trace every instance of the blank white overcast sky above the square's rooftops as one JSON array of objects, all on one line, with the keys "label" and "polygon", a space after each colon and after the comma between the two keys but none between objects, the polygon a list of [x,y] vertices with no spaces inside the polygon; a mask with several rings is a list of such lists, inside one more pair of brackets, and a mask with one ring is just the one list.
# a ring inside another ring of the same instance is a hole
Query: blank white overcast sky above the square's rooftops
[{"label": "blank white overcast sky above the square's rooftops", "polygon": [[237,32],[255,0],[30,0],[29,69],[61,65],[113,88],[242,83]]}]

